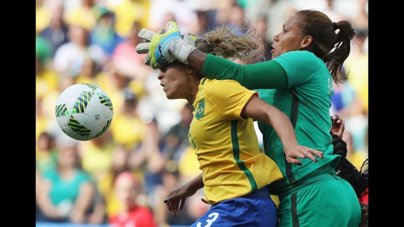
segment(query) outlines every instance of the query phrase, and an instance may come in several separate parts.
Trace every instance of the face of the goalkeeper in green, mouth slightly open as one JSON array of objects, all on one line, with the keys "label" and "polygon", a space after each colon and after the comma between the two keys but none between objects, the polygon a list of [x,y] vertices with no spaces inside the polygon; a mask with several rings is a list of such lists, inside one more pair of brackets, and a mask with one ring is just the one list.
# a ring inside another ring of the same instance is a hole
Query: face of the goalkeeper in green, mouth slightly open
[{"label": "face of the goalkeeper in green, mouth slightly open", "polygon": [[297,15],[289,17],[284,23],[282,31],[273,37],[272,59],[289,51],[300,50],[303,34],[296,24],[299,18]]}]

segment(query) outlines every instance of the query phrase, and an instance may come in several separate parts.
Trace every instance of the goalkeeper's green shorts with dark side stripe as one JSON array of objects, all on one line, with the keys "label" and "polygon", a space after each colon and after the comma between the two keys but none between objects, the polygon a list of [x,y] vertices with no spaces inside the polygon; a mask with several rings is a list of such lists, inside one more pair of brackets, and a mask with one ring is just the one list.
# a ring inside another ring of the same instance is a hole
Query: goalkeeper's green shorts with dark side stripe
[{"label": "goalkeeper's green shorts with dark side stripe", "polygon": [[309,178],[279,196],[279,227],[358,226],[361,208],[352,186],[333,174]]}]

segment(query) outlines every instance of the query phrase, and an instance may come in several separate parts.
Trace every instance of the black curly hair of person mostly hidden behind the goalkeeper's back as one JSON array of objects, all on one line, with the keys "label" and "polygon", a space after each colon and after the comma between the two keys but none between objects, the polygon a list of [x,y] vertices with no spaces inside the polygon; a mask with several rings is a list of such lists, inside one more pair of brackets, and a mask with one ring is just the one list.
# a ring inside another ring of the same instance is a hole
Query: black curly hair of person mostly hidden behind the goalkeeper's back
[{"label": "black curly hair of person mostly hidden behind the goalkeeper's back", "polygon": [[335,170],[338,172],[338,176],[343,178],[344,180],[348,181],[351,186],[354,188],[356,196],[358,198],[362,198],[362,196],[366,196],[367,188],[369,185],[368,182],[368,170],[362,172],[362,168],[366,165],[366,161],[363,161],[362,167],[360,171],[356,169],[354,165],[347,159],[347,143],[339,138],[337,135],[332,134],[332,141],[331,143],[334,145],[334,150],[332,154],[339,154],[341,158],[339,159],[339,163]]}]

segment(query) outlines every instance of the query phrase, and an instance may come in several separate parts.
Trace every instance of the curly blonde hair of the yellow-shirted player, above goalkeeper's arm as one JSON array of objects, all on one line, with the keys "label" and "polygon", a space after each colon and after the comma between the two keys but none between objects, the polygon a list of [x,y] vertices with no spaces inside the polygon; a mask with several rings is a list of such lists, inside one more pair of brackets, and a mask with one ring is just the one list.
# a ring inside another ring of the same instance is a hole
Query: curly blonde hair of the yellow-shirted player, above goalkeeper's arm
[{"label": "curly blonde hair of the yellow-shirted player, above goalkeeper's arm", "polygon": [[257,56],[253,50],[258,49],[259,45],[254,42],[256,29],[253,33],[236,35],[234,30],[238,28],[230,28],[227,25],[216,27],[214,30],[204,34],[202,38],[197,38],[195,47],[208,54],[220,56],[226,59],[235,60],[253,60]]}]

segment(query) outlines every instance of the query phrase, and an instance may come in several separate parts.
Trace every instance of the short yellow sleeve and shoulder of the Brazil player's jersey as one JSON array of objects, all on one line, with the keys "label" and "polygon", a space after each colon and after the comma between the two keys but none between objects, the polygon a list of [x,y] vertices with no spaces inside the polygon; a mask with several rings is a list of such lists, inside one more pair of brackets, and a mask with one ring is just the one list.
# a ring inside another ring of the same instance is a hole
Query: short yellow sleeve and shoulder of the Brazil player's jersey
[{"label": "short yellow sleeve and shoulder of the Brazil player's jersey", "polygon": [[248,90],[234,80],[211,80],[205,86],[205,98],[212,102],[220,114],[229,120],[244,119],[241,110],[258,92]]}]

